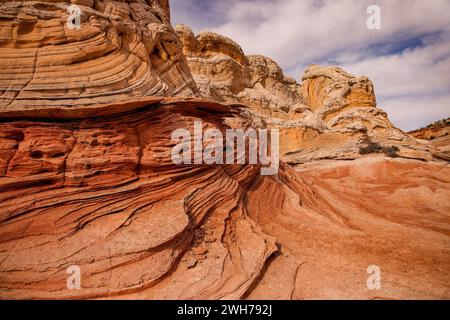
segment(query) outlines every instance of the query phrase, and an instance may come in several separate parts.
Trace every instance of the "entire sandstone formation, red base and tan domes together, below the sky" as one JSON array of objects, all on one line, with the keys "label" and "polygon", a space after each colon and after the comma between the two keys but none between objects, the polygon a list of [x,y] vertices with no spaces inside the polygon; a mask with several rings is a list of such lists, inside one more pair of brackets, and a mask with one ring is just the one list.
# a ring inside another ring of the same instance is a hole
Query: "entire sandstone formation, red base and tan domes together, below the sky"
[{"label": "entire sandstone formation, red base and tan domes together, below the sky", "polygon": [[[69,2],[0,1],[0,298],[450,298],[450,167],[367,78],[311,66],[298,84],[174,31],[166,0],[72,3],[81,30]],[[175,165],[195,120],[279,128],[304,164]]]}]

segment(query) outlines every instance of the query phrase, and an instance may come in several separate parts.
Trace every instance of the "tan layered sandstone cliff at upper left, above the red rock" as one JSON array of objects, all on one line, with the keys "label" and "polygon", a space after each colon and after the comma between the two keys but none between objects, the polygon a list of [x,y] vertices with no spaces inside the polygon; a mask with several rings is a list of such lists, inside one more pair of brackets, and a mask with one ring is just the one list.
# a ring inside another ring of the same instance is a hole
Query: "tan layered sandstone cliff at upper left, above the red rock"
[{"label": "tan layered sandstone cliff at upper left, above the red rock", "polygon": [[[70,29],[67,8],[82,9]],[[163,1],[0,1],[0,108],[196,92]]]}]

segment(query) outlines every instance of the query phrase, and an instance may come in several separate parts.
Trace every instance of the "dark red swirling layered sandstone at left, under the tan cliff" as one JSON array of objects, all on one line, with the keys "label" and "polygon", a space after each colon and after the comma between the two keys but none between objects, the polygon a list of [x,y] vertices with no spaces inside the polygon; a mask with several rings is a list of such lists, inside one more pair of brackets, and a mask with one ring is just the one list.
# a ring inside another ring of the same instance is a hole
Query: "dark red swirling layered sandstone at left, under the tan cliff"
[{"label": "dark red swirling layered sandstone at left, under the tan cliff", "polygon": [[[245,212],[258,168],[177,167],[170,158],[173,130],[195,119],[224,129],[227,113],[150,100],[125,115],[2,123],[1,296],[241,297],[276,251]],[[156,295],[186,259],[199,261],[190,280]],[[74,264],[81,290],[64,280]]]}]

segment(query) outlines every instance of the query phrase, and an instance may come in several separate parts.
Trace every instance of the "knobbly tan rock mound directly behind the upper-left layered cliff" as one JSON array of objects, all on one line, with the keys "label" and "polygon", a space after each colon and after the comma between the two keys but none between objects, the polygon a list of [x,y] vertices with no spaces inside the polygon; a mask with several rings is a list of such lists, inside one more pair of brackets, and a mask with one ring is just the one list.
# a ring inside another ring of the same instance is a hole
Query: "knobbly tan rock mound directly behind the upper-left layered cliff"
[{"label": "knobbly tan rock mound directly behind the upper-left layered cliff", "polygon": [[194,36],[185,25],[177,25],[175,31],[203,96],[250,105],[252,111],[267,117],[288,112],[301,101],[300,85],[285,77],[272,59],[246,56],[233,40],[213,32]]}]

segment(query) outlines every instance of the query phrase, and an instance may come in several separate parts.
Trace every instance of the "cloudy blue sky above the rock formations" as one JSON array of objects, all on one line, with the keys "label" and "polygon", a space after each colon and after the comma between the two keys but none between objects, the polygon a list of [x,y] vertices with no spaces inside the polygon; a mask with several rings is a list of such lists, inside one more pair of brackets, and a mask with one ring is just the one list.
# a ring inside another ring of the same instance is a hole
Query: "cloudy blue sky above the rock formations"
[{"label": "cloudy blue sky above the rock formations", "polygon": [[[210,30],[273,58],[298,81],[312,63],[375,85],[403,130],[450,117],[450,0],[171,0],[172,22]],[[368,30],[369,5],[381,29]]]}]

